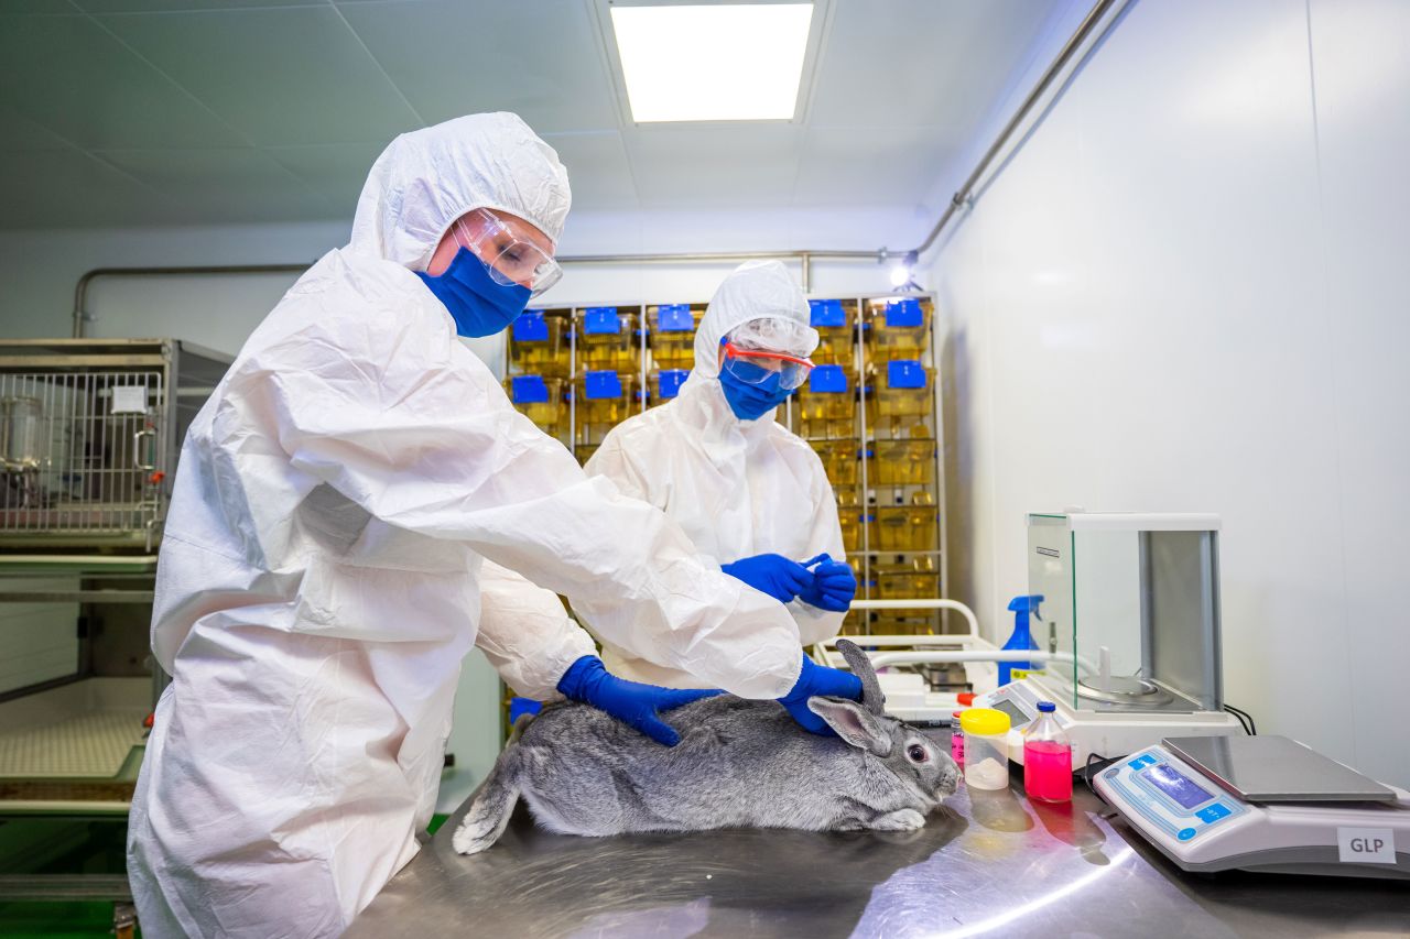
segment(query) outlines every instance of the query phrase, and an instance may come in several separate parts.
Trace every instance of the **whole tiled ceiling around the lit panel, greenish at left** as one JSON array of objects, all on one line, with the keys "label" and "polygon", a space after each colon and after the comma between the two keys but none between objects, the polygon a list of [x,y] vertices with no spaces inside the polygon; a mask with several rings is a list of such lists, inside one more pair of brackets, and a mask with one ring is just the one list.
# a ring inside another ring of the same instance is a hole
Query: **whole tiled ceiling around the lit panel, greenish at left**
[{"label": "whole tiled ceiling around the lit panel, greenish at left", "polygon": [[826,0],[797,123],[636,127],[606,0],[4,0],[0,227],[345,219],[393,135],[513,110],[574,209],[916,209],[1063,0]]}]

